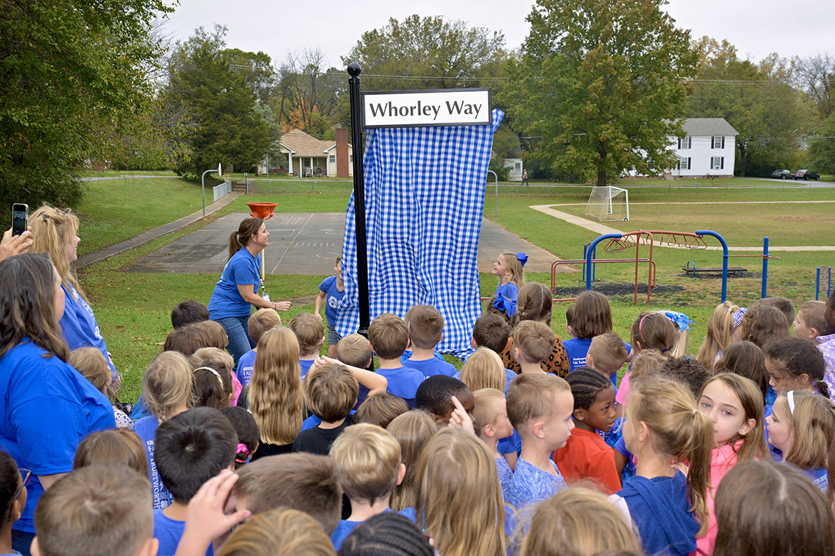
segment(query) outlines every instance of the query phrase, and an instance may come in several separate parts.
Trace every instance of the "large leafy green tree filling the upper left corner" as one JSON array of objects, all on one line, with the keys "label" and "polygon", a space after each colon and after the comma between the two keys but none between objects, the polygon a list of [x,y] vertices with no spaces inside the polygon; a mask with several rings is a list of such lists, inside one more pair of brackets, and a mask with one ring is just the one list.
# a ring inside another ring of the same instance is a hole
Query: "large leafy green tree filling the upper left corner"
[{"label": "large leafy green tree filling the upper left corner", "polygon": [[0,3],[0,204],[78,201],[78,168],[148,113],[163,0]]}]

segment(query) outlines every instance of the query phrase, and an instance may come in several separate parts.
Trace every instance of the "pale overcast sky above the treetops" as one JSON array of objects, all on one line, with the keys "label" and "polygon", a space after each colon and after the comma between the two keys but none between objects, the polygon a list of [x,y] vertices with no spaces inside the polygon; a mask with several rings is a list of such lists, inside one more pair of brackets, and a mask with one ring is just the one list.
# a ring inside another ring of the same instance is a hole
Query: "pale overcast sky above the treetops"
[{"label": "pale overcast sky above the treetops", "polygon": [[[504,33],[508,48],[519,48],[529,32],[530,0],[180,0],[164,32],[185,39],[200,26],[228,28],[230,48],[262,51],[278,66],[290,52],[321,48],[327,66],[342,67],[362,33],[382,28],[389,18],[412,13],[462,19],[475,27]],[[835,2],[832,0],[671,0],[665,7],[693,38],[726,38],[741,58],[758,61],[777,52],[784,58],[835,53]]]}]

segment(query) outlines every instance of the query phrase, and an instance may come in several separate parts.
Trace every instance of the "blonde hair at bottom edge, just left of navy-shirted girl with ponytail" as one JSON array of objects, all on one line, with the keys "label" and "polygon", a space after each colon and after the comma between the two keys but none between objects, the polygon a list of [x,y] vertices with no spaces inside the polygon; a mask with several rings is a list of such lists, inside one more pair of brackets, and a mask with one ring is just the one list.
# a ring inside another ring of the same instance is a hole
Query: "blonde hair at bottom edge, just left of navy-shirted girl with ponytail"
[{"label": "blonde hair at bottom edge, just left of navy-shirted girl with ponytail", "polygon": [[594,556],[605,550],[641,553],[635,531],[603,494],[574,487],[539,503],[520,556]]}]

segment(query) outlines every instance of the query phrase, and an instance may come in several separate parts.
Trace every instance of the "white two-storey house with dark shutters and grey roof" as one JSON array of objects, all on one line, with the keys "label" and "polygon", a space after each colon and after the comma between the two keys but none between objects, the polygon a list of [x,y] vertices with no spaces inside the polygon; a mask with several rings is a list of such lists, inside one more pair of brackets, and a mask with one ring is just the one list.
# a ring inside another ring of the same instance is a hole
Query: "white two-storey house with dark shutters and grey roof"
[{"label": "white two-storey house with dark shutters and grey roof", "polygon": [[667,173],[681,178],[733,176],[739,133],[725,118],[688,118],[682,127],[685,137],[670,137],[678,164]]}]

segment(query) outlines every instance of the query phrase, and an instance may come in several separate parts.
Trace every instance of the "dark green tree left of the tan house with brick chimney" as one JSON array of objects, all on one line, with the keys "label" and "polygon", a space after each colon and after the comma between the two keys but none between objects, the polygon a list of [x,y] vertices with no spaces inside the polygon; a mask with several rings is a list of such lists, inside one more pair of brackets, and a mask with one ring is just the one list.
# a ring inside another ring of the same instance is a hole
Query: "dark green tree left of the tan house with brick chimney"
[{"label": "dark green tree left of the tan house with brick chimney", "polygon": [[225,33],[220,26],[213,33],[198,28],[185,43],[176,44],[171,56],[162,98],[167,107],[187,108],[196,122],[187,135],[191,156],[175,168],[179,173],[200,174],[217,163],[251,168],[275,139],[271,113],[267,117],[258,104],[250,65],[237,63],[261,60],[268,66],[269,58],[225,50]]}]

